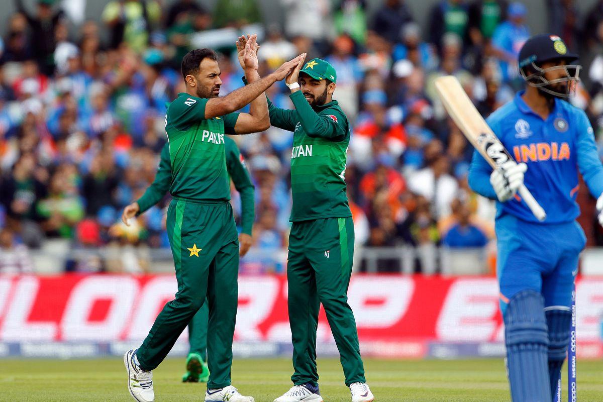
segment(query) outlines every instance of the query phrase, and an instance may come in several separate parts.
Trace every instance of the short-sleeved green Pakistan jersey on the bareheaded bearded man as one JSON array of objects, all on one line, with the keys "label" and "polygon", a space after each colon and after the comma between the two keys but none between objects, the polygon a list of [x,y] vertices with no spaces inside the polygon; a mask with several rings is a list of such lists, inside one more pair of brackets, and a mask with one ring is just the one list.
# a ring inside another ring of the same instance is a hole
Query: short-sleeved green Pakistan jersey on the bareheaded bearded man
[{"label": "short-sleeved green Pakistan jersey on the bareheaded bearded man", "polygon": [[172,180],[169,192],[175,198],[193,201],[228,201],[224,134],[235,134],[239,113],[205,118],[209,99],[178,93],[168,106],[168,134]]}]

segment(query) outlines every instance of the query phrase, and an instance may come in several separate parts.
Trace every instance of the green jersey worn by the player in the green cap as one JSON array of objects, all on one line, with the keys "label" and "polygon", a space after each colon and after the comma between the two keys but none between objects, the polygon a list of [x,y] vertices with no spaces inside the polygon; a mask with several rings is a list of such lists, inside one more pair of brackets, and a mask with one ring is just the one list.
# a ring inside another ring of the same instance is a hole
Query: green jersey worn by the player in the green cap
[{"label": "green jersey worn by the player in the green cap", "polygon": [[312,108],[301,91],[290,95],[295,110],[268,100],[270,124],[293,131],[291,222],[352,216],[347,203],[346,151],[350,125],[337,101]]}]

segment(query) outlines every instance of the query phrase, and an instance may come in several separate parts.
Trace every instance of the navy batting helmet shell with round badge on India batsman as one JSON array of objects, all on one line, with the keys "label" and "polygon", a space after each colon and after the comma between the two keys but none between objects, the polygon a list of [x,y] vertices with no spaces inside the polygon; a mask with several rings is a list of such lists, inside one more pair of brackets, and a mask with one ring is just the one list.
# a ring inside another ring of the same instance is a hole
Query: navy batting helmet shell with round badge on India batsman
[{"label": "navy batting helmet shell with round badge on India batsman", "polygon": [[532,36],[519,51],[519,68],[537,65],[545,61],[566,60],[567,64],[578,60],[578,55],[567,50],[563,39],[557,35],[540,34]]}]

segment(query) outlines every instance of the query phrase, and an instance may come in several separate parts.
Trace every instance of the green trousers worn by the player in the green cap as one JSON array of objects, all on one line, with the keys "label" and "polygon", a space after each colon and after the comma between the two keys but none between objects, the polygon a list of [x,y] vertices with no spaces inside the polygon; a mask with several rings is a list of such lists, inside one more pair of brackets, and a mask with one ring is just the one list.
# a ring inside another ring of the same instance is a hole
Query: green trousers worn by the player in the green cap
[{"label": "green trousers worn by the player in the green cap", "polygon": [[295,385],[318,384],[316,331],[320,304],[341,356],[346,385],[366,382],[356,320],[347,304],[354,256],[351,217],[294,222],[289,234],[287,281]]}]

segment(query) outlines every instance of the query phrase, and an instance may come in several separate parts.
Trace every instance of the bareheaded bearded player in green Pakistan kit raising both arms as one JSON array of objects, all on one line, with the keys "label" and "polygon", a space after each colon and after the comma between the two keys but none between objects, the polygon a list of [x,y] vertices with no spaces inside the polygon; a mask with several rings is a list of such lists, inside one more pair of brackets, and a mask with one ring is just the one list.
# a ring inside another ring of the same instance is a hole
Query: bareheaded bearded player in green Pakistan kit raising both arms
[{"label": "bareheaded bearded player in green Pakistan kit raising both arms", "polygon": [[[301,59],[300,55],[260,78],[255,37],[251,36],[244,50],[245,77],[251,84],[222,98],[218,98],[222,81],[215,52],[196,49],[182,60],[186,92],[178,94],[165,116],[173,197],[167,228],[178,292],[163,307],[142,345],[124,355],[128,390],[139,402],[154,401],[151,370],[165,359],[206,297],[210,375],[205,400],[254,401],[239,394],[230,380],[239,242],[228,202],[224,134],[266,130],[270,126],[267,101],[259,95],[285,78]],[[246,104],[250,104],[249,113],[235,113]]]}]

